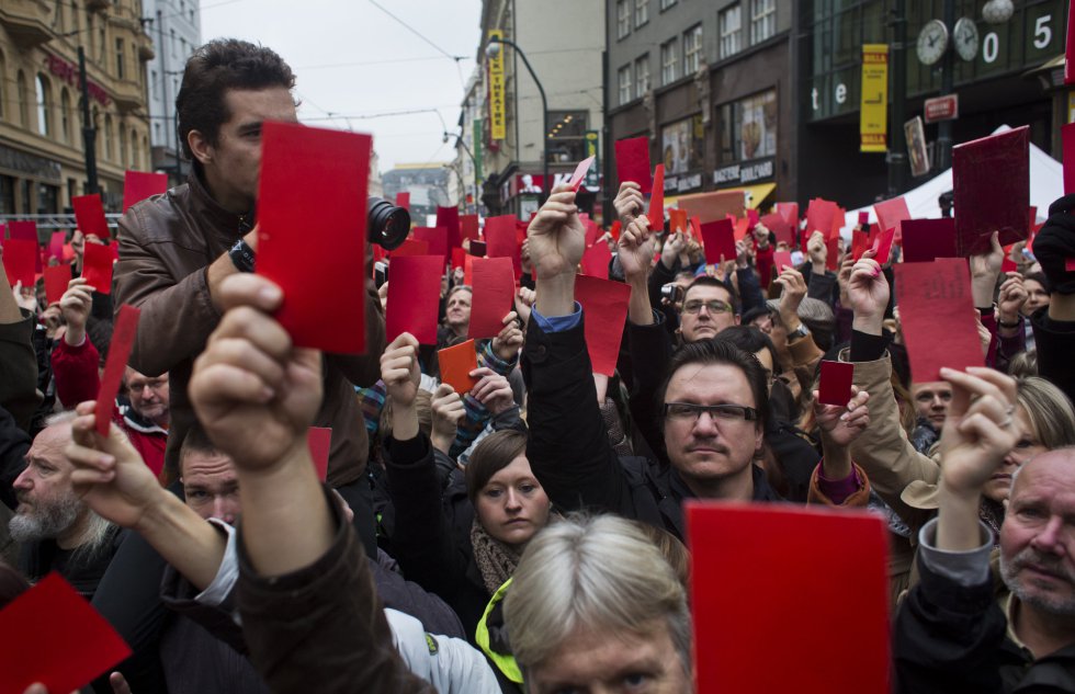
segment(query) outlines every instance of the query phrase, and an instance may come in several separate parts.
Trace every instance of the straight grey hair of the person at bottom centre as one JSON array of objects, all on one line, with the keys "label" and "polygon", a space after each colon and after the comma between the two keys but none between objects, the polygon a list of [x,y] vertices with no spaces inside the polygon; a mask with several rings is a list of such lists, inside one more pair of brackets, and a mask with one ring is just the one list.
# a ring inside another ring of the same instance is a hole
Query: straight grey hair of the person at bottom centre
[{"label": "straight grey hair of the person at bottom centre", "polygon": [[573,514],[527,546],[505,600],[511,650],[524,671],[546,661],[579,627],[644,633],[665,619],[684,672],[691,621],[676,572],[631,521]]}]

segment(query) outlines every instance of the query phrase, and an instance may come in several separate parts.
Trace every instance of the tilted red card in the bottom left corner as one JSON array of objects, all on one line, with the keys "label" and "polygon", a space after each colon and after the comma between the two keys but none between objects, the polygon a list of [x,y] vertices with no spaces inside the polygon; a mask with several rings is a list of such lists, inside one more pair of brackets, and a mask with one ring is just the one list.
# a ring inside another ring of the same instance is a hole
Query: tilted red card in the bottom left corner
[{"label": "tilted red card in the bottom left corner", "polygon": [[72,692],[131,655],[112,625],[55,571],[0,611],[0,694],[22,694],[35,682]]}]

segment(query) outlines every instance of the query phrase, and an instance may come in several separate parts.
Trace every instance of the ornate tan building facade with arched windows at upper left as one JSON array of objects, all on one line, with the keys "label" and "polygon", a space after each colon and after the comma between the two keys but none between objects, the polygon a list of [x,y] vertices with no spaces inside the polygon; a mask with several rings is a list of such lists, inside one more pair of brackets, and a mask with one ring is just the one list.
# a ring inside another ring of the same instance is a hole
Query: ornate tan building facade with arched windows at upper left
[{"label": "ornate tan building facade with arched windows at upper left", "polygon": [[61,213],[87,192],[79,48],[105,209],[124,171],[150,169],[142,19],[139,0],[0,3],[0,215]]}]

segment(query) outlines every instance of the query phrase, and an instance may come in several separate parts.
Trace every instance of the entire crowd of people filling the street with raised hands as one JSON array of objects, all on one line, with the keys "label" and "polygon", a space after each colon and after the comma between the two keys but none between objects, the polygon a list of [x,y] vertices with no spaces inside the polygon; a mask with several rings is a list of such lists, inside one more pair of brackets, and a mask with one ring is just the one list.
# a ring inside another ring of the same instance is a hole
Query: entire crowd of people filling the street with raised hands
[{"label": "entire crowd of people filling the street with raised hands", "polygon": [[[177,99],[193,173],[120,220],[111,293],[0,293],[0,605],[70,582],[132,649],[93,691],[690,692],[710,657],[684,544],[701,499],[880,514],[894,691],[1075,692],[1075,195],[1017,271],[995,237],[970,258],[986,365],[924,382],[898,247],[882,265],[841,242],[834,272],[822,232],[757,224],[706,264],[621,181],[621,230],[598,240],[630,288],[610,377],[558,185],[456,392],[433,348],[467,338],[461,272],[438,345],[389,341],[372,278],[364,354],[297,348],[274,319],[282,291],[250,272],[260,128],[297,121],[294,84],[268,48],[200,48]],[[76,269],[106,241],[76,231]],[[140,320],[102,435],[126,304]],[[853,364],[847,402],[821,403],[823,360]],[[310,426],[332,432],[324,482]]]}]

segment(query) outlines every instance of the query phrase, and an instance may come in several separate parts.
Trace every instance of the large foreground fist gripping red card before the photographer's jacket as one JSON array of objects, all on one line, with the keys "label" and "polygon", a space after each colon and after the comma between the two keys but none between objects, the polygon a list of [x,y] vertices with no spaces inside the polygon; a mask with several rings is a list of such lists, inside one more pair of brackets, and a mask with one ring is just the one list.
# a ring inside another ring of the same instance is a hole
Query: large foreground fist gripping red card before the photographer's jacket
[{"label": "large foreground fist gripping red card before the photographer's jacket", "polygon": [[190,398],[214,444],[241,469],[272,467],[306,451],[321,405],[321,355],[293,346],[272,317],[280,287],[238,273],[220,283],[224,318],[194,362]]}]

